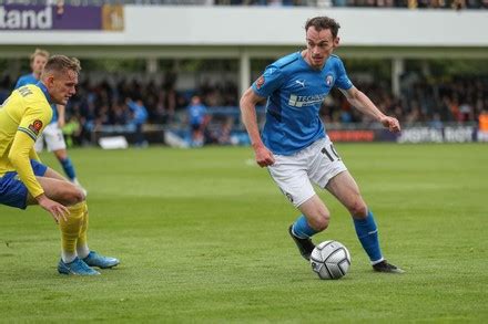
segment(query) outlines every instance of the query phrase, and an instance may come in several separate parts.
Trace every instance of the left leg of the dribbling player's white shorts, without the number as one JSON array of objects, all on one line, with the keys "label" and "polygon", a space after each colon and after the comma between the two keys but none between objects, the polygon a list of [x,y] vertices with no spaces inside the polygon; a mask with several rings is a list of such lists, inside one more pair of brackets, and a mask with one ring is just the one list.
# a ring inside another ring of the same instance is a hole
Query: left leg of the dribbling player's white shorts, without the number
[{"label": "left leg of the dribbling player's white shorts, without the number", "polygon": [[267,169],[283,195],[295,207],[301,206],[315,195],[305,164],[302,160],[276,155],[275,163],[268,166]]}]

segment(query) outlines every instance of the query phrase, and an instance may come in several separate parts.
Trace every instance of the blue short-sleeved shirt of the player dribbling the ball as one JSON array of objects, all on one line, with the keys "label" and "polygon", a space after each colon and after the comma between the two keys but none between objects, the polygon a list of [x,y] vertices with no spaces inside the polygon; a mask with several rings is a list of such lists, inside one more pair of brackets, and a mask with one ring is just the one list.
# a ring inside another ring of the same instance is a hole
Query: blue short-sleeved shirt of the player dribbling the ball
[{"label": "blue short-sleeved shirt of the player dribbling the ball", "polygon": [[308,65],[301,52],[268,65],[252,85],[258,96],[267,98],[264,145],[274,154],[292,155],[325,137],[318,112],[334,85],[342,90],[353,86],[336,55],[322,70]]}]

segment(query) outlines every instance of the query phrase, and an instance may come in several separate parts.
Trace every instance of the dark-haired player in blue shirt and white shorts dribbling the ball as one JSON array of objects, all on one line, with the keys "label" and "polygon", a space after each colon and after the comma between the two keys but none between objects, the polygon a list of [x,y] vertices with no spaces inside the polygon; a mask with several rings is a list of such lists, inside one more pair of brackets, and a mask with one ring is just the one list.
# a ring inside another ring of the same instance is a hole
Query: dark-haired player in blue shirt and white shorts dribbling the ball
[{"label": "dark-haired player in blue shirt and white shorts dribbling the ball", "polygon": [[[268,65],[243,94],[241,112],[256,163],[267,167],[272,178],[302,212],[288,231],[303,258],[315,248],[311,237],[328,227],[331,212],[315,194],[312,182],[327,189],[353,217],[357,237],[378,272],[403,273],[380,251],[373,212],[337,155],[319,117],[319,108],[333,86],[362,113],[390,132],[400,132],[396,118],[383,114],[348,79],[340,59],[333,55],[339,44],[339,24],[328,17],[306,22],[307,48]],[[266,122],[260,136],[256,104],[264,98]]]}]

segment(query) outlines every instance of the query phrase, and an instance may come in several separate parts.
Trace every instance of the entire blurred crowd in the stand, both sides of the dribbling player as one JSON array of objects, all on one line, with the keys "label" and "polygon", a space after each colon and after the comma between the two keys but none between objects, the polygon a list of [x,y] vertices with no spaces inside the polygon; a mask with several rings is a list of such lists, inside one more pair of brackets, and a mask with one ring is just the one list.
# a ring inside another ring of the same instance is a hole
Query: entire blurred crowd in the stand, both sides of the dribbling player
[{"label": "entire blurred crowd in the stand, both sides of the dribbling player", "polygon": [[[205,107],[199,108],[199,112],[204,112],[199,123],[202,127],[200,130],[205,133],[205,140],[225,144],[233,129],[242,128],[235,83],[228,80],[215,83],[204,81],[197,88],[183,92],[176,91],[175,82],[176,75],[171,73],[159,82],[136,79],[116,82],[83,80],[77,95],[67,106],[70,140],[73,144],[90,143],[93,132],[108,127],[135,132],[141,145],[144,144],[144,138],[141,138],[144,125],[195,132],[196,128],[191,126],[191,103],[195,96],[197,104]],[[488,109],[488,77],[429,80],[407,74],[401,80],[400,96],[392,94],[388,82],[360,82],[354,77],[353,82],[383,112],[396,116],[404,125],[427,123],[440,127],[446,122],[477,123],[481,112]],[[1,102],[12,88],[13,82],[10,79],[0,81]],[[352,107],[340,92],[335,90],[325,100],[321,113],[328,125],[374,123]],[[264,109],[258,114],[261,121],[263,114]]]}]

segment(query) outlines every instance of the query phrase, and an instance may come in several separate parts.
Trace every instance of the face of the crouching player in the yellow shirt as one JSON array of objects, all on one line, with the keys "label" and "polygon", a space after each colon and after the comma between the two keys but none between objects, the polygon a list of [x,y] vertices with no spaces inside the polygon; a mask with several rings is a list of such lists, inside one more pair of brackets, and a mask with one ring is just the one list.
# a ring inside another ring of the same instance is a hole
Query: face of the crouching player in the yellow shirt
[{"label": "face of the crouching player in the yellow shirt", "polygon": [[53,73],[48,76],[45,82],[52,102],[63,106],[77,93],[77,84],[78,73],[72,70]]}]

